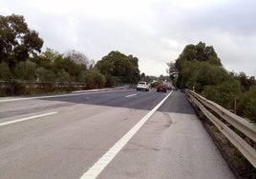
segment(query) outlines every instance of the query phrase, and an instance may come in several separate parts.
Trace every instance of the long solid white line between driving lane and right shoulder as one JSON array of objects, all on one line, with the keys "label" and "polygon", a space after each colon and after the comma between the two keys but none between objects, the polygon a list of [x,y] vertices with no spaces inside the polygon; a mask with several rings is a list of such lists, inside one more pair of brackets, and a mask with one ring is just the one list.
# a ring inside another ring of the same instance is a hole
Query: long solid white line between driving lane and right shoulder
[{"label": "long solid white line between driving lane and right shoulder", "polygon": [[137,133],[137,131],[144,125],[144,123],[160,108],[164,101],[172,94],[171,91],[160,103],[152,110],[150,110],[140,121],[130,129],[117,143],[109,149],[101,158],[99,158],[96,164],[88,169],[80,179],[95,179],[97,175],[107,167],[107,165],[115,158],[117,153],[129,142],[129,140]]}]

